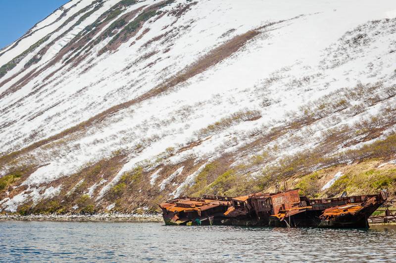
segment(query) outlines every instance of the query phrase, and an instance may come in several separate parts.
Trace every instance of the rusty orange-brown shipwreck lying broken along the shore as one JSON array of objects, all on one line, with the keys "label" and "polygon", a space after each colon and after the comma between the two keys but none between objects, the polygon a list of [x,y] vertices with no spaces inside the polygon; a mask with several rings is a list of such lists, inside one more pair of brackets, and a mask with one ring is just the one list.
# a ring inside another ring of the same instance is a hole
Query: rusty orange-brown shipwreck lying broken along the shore
[{"label": "rusty orange-brown shipwreck lying broken along the shore", "polygon": [[161,203],[167,225],[247,225],[285,227],[369,227],[367,219],[387,193],[309,199],[299,189],[229,197],[179,197]]}]

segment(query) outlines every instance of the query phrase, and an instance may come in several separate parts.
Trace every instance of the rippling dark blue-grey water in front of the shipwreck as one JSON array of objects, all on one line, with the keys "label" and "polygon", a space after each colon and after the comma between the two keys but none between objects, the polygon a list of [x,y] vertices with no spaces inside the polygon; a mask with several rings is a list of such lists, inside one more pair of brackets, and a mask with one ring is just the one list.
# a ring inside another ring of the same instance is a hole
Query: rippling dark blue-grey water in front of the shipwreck
[{"label": "rippling dark blue-grey water in front of the shipwreck", "polygon": [[0,262],[396,262],[396,227],[0,222]]}]

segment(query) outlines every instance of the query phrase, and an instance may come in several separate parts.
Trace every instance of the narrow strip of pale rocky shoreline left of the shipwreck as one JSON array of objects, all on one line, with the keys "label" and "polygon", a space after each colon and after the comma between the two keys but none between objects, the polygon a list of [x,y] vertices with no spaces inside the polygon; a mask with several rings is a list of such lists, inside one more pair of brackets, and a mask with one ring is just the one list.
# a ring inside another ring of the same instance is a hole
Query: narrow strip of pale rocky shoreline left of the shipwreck
[{"label": "narrow strip of pale rocky shoreline left of the shipwreck", "polygon": [[38,215],[0,215],[0,221],[137,221],[137,222],[161,222],[161,215],[156,214],[122,214],[122,213],[100,213],[100,214],[38,214]]}]

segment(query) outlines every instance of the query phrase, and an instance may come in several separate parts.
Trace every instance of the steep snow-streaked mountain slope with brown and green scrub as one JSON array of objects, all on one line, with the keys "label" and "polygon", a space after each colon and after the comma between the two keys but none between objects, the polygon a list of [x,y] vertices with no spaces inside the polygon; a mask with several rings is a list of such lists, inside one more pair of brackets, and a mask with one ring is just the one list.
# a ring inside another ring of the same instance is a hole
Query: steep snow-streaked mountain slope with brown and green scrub
[{"label": "steep snow-streaked mountain slope with brown and green scrub", "polygon": [[71,0],[0,51],[0,209],[153,211],[280,177],[340,194],[313,172],[395,158],[395,17],[390,0]]}]

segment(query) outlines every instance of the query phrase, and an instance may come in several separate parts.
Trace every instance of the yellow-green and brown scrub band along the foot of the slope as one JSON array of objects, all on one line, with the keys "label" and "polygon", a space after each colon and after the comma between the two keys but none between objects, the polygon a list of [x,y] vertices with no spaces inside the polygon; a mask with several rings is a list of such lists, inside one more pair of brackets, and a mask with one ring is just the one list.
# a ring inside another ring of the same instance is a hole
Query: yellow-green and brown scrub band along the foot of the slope
[{"label": "yellow-green and brown scrub band along the foot of the slope", "polygon": [[[113,204],[111,207],[113,211],[159,212],[157,204],[171,197],[167,193],[172,189],[168,188],[171,184],[166,185],[163,190],[159,190],[155,185],[174,174],[180,167],[183,167],[186,174],[191,174],[199,167],[203,167],[195,178],[193,186],[186,186],[183,191],[183,194],[190,196],[198,197],[202,194],[238,196],[256,191],[273,191],[275,182],[285,178],[281,176],[280,171],[293,169],[295,172],[286,177],[289,187],[300,188],[301,194],[309,197],[340,196],[344,191],[347,191],[348,195],[371,194],[387,188],[391,198],[395,198],[396,166],[394,162],[387,164],[395,153],[396,137],[391,136],[384,141],[367,145],[363,149],[348,152],[347,157],[362,157],[353,162],[338,161],[340,164],[328,165],[327,168],[306,173],[304,168],[310,166],[311,163],[303,157],[309,157],[309,155],[297,155],[289,157],[289,160],[283,160],[282,165],[272,167],[271,171],[266,170],[263,174],[255,176],[249,176],[249,170],[254,166],[260,166],[269,157],[268,154],[253,156],[250,162],[239,166],[232,165],[232,158],[235,157],[232,154],[224,155],[207,164],[203,161],[194,164],[194,159],[187,159],[177,165],[161,164],[156,167],[146,163],[124,173],[120,181],[105,194],[102,202],[98,204],[96,197],[100,187],[111,180],[124,163],[125,155],[115,153],[116,155],[111,159],[87,164],[87,167],[67,179],[54,181],[51,183],[52,187],[62,187],[58,195],[28,202],[18,207],[18,211],[21,214],[94,213],[105,212],[106,208]],[[336,160],[337,157],[333,157],[331,162],[337,162]],[[147,172],[149,167],[155,167],[155,169]],[[12,174],[1,178],[0,188],[3,197],[7,195],[5,191],[9,192],[8,196],[15,194],[12,186],[17,186],[16,181],[24,174],[32,172],[32,168],[25,169],[27,170],[17,169]],[[156,184],[153,186],[150,184],[150,176],[156,171],[160,171],[161,175],[155,180]],[[330,188],[321,190],[337,173],[341,173],[342,176]],[[177,185],[183,181],[180,177],[172,180]]]}]

